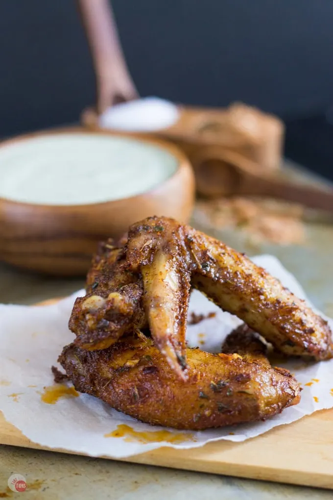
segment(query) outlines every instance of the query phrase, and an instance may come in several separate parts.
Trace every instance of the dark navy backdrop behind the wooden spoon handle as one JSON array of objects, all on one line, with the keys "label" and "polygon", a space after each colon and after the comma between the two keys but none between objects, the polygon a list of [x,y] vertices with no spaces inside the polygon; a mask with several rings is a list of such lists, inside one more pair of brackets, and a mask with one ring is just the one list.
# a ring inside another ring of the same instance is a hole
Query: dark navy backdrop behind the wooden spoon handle
[{"label": "dark navy backdrop behind the wooden spoon handle", "polygon": [[[141,95],[274,112],[287,154],[333,178],[332,0],[112,4]],[[77,121],[94,93],[74,0],[0,1],[1,136]]]}]

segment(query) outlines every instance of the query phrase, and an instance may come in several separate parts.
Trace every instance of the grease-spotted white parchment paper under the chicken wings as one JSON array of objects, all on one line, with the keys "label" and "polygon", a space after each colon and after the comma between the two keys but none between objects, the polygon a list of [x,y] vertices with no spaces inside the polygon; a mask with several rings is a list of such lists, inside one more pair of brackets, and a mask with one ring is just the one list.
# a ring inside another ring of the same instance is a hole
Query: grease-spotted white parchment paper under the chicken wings
[{"label": "grease-spotted white parchment paper under the chicken wings", "polygon": [[[295,277],[275,257],[261,255],[254,260],[299,297],[306,298]],[[0,305],[0,409],[7,421],[36,443],[92,456],[120,458],[161,446],[191,448],[218,439],[243,441],[333,406],[333,360],[307,363],[294,359],[280,365],[295,373],[301,383],[304,389],[301,402],[265,422],[189,432],[188,439],[179,443],[105,437],[121,423],[135,431],[155,431],[161,427],[138,422],[87,394],[60,398],[55,404],[42,402],[40,394],[44,386],[53,384],[50,367],[57,365],[63,345],[73,339],[67,323],[76,295],[50,306]],[[198,291],[192,293],[189,313],[191,311],[216,312],[215,317],[188,326],[189,345],[199,345],[204,350],[219,352],[226,334],[241,322],[222,312]],[[333,328],[333,320],[326,319]]]}]

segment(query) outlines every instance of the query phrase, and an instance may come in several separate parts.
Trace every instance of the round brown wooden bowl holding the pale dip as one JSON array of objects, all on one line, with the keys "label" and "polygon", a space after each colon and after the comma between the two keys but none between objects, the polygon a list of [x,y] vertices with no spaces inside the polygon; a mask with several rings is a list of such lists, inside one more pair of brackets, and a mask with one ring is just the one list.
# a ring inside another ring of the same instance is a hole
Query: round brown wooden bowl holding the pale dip
[{"label": "round brown wooden bowl holding the pale dip", "polygon": [[[1,148],[43,134],[86,133],[127,136],[81,127],[21,135]],[[130,134],[133,139],[133,134]],[[82,275],[97,243],[120,237],[133,222],[149,215],[166,215],[187,222],[194,203],[194,176],[186,156],[173,144],[157,139],[134,140],[158,146],[178,162],[175,173],[157,187],[135,196],[80,205],[45,205],[0,198],[0,260],[38,272]],[[96,164],[96,168],[97,168]]]}]

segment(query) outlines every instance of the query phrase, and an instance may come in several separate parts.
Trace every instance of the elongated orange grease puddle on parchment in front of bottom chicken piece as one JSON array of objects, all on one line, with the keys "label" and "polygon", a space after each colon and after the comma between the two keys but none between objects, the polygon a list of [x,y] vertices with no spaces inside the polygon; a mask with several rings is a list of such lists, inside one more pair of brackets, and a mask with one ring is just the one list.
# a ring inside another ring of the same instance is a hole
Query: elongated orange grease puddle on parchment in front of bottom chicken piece
[{"label": "elongated orange grease puddle on parchment in front of bottom chicken piece", "polygon": [[104,437],[125,437],[126,442],[140,441],[142,443],[147,442],[174,442],[179,443],[182,441],[194,441],[192,434],[186,434],[185,432],[171,432],[170,430],[147,430],[144,432],[139,432],[125,423],[117,425],[116,430],[104,434]]}]

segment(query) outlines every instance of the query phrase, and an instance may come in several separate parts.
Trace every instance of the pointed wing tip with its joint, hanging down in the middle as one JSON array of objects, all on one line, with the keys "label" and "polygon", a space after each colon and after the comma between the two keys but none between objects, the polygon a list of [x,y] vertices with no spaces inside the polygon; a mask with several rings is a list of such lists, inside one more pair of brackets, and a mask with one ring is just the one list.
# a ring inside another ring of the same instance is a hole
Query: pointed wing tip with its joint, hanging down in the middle
[{"label": "pointed wing tip with its joint, hanging down in the middle", "polygon": [[126,260],[143,278],[143,306],[155,345],[185,378],[185,332],[190,296],[189,255],[184,227],[150,218],[130,227]]}]

